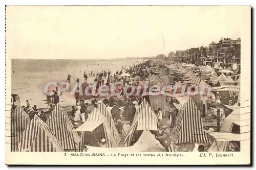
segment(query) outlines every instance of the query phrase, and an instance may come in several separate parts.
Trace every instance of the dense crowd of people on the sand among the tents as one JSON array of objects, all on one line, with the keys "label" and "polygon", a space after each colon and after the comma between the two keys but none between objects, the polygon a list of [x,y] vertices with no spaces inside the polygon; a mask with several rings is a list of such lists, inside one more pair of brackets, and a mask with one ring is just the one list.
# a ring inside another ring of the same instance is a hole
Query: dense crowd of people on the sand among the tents
[{"label": "dense crowd of people on the sand among the tents", "polygon": [[[75,98],[75,105],[72,106],[72,110],[70,111],[71,119],[73,120],[73,124],[75,127],[79,127],[81,124],[86,122],[89,114],[92,112],[94,108],[98,107],[98,104],[100,102],[103,102],[104,105],[108,108],[111,107],[111,114],[112,118],[114,120],[115,126],[119,133],[121,133],[122,124],[124,121],[128,122],[127,126],[132,126],[134,116],[136,113],[136,108],[139,106],[140,101],[142,98],[147,99],[145,96],[141,96],[143,89],[140,89],[141,91],[139,93],[135,92],[133,95],[125,95],[124,93],[124,87],[133,85],[135,86],[135,91],[137,90],[137,86],[139,86],[139,81],[135,80],[135,77],[138,76],[141,81],[148,80],[153,75],[158,75],[154,70],[151,70],[152,67],[157,67],[159,70],[162,70],[165,75],[172,76],[172,82],[170,82],[170,85],[174,85],[177,82],[180,81],[179,76],[175,74],[171,69],[169,69],[164,63],[156,63],[152,60],[145,61],[143,63],[137,64],[137,65],[131,65],[129,67],[122,67],[120,70],[116,70],[116,72],[112,72],[111,70],[102,70],[100,72],[89,72],[87,74],[86,71],[83,72],[83,78],[84,82],[82,83],[82,88],[86,88],[88,83],[88,78],[94,78],[94,81],[92,82],[96,84],[96,93],[98,91],[98,88],[101,85],[108,86],[111,88],[113,84],[116,82],[120,82],[119,85],[115,87],[115,91],[119,93],[119,96],[111,96],[109,95],[108,98],[104,98],[100,95],[80,95],[79,92],[75,92],[74,98]],[[70,83],[71,81],[71,75],[68,74],[67,81]],[[77,78],[76,83],[80,83],[80,80]],[[211,87],[214,87],[215,84],[213,84],[211,81],[206,82]],[[83,86],[84,85],[84,86]],[[147,88],[147,91],[150,87]],[[79,87],[77,87],[77,90]],[[127,92],[131,92],[131,88],[127,89]],[[48,91],[49,92],[49,91]],[[33,116],[36,114],[38,115],[44,122],[47,121],[48,116],[52,113],[53,108],[55,105],[59,103],[59,95],[62,93],[58,92],[58,87],[56,87],[55,90],[52,90],[52,95],[47,95],[47,103],[49,104],[48,110],[39,110],[37,109],[37,106],[34,105],[31,107],[29,101],[26,101],[26,106],[22,106],[25,112],[27,112],[30,116],[30,119],[33,118]],[[216,104],[221,104],[221,95],[218,93],[216,94]],[[230,96],[230,100],[228,101],[229,105],[234,105],[238,101],[238,96],[236,93],[232,93],[232,96]],[[150,101],[148,101],[150,104]],[[160,143],[164,146],[167,152],[172,151],[171,143],[172,138],[170,136],[170,133],[175,126],[176,118],[178,115],[178,110],[175,108],[174,103],[179,104],[179,101],[176,98],[170,98],[170,101],[168,101],[168,112],[163,113],[161,108],[155,108],[154,113],[157,117],[157,125],[159,128],[159,131],[155,133],[155,137],[157,140],[160,141]],[[209,103],[210,104],[210,103]],[[15,105],[13,105],[12,110],[15,109]],[[165,116],[163,116],[165,115]],[[105,147],[105,139],[101,139],[101,147]],[[203,146],[198,146],[198,151],[203,151]]]}]

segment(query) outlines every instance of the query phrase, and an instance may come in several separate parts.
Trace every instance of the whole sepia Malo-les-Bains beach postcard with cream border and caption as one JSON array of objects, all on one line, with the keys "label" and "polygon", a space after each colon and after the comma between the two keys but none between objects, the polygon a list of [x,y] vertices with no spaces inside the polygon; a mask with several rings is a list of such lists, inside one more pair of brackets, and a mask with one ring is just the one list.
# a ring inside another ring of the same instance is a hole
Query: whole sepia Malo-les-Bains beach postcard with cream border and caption
[{"label": "whole sepia Malo-les-Bains beach postcard with cream border and caption", "polygon": [[6,164],[251,163],[250,6],[6,6]]}]

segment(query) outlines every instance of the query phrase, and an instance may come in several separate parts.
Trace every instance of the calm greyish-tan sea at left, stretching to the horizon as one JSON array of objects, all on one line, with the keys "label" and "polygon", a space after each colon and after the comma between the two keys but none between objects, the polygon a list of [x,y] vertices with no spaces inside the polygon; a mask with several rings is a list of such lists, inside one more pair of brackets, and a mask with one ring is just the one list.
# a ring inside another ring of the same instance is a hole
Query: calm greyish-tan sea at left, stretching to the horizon
[{"label": "calm greyish-tan sea at left, stretching to the horizon", "polygon": [[[102,60],[80,59],[12,59],[12,93],[18,94],[20,103],[40,106],[45,103],[44,87],[49,82],[66,81],[71,75],[71,85],[78,78],[84,81],[83,72],[100,72],[110,69],[113,72],[121,67],[129,67],[147,60],[146,58],[119,58]],[[88,83],[95,77],[89,77]],[[60,96],[63,105],[73,105],[74,97],[69,94]],[[71,103],[71,104],[70,104]]]}]

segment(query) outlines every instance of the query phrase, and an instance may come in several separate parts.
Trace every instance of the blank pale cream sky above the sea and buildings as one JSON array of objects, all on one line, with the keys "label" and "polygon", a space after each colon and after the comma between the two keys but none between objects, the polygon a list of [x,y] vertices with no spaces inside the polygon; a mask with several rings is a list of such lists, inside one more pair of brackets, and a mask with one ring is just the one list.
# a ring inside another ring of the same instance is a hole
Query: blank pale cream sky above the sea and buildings
[{"label": "blank pale cream sky above the sea and buildings", "polygon": [[[248,6],[8,6],[6,54],[16,59],[168,55],[245,30]],[[247,20],[248,22],[248,20]],[[243,44],[243,38],[241,37]]]}]

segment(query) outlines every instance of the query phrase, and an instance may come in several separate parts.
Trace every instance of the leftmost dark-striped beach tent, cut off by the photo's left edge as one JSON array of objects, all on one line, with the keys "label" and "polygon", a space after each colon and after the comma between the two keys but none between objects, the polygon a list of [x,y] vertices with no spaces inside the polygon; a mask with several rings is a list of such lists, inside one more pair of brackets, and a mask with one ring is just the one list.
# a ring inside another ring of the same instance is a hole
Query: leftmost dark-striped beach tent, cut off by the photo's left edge
[{"label": "leftmost dark-striped beach tent, cut off by the photo's left edge", "polygon": [[17,151],[18,143],[23,137],[23,131],[29,123],[29,115],[17,105],[11,113],[11,152]]}]

